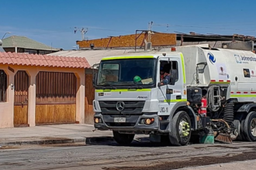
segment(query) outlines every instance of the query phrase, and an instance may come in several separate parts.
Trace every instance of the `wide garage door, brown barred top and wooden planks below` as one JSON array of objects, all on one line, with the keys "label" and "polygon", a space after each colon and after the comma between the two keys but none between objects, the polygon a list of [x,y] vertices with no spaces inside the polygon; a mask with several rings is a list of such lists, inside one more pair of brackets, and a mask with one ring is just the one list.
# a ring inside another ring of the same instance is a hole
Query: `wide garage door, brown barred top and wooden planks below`
[{"label": "wide garage door, brown barred top and wooden planks below", "polygon": [[75,123],[77,78],[74,73],[36,76],[36,124]]}]

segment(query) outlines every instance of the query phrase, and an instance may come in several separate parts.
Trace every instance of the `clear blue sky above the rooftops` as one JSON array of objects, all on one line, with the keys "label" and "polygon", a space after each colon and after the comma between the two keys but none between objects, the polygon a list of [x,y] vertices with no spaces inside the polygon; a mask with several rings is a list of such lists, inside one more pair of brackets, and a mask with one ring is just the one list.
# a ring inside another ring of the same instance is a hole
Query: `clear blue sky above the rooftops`
[{"label": "clear blue sky above the rooftops", "polygon": [[[26,36],[48,46],[76,49],[86,39],[157,32],[256,36],[254,0],[0,0],[0,39]],[[77,32],[74,33],[75,28]]]}]

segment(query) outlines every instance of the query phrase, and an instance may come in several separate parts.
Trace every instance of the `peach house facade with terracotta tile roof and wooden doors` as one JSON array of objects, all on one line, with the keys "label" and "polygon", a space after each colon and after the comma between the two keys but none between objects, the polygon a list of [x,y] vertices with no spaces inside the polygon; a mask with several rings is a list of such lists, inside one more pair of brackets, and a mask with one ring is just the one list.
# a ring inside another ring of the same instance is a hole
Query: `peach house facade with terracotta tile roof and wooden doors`
[{"label": "peach house facade with terracotta tile roof and wooden doors", "polygon": [[0,128],[85,123],[85,58],[0,53]]}]

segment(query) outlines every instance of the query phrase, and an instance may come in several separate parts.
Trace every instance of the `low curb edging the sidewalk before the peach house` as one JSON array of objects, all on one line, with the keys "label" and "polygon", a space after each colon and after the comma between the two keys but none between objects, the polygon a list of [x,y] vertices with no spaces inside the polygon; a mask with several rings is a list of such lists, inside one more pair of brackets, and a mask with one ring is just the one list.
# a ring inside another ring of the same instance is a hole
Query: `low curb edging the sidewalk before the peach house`
[{"label": "low curb edging the sidewalk before the peach house", "polygon": [[54,144],[68,144],[68,143],[85,143],[85,145],[93,145],[96,143],[113,141],[112,137],[90,137],[90,138],[59,138],[35,141],[11,141],[2,142],[0,146],[22,146],[22,145],[54,145]]}]

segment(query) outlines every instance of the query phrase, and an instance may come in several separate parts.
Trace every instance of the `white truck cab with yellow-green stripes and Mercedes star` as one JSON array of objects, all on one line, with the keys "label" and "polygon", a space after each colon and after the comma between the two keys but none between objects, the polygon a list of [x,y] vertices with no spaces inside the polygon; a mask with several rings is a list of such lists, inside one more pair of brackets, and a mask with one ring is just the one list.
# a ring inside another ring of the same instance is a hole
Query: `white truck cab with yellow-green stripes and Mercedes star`
[{"label": "white truck cab with yellow-green stripes and Mercedes star", "polygon": [[[120,144],[130,143],[134,134],[169,133],[170,116],[187,104],[182,53],[103,58],[94,86],[95,128],[112,130]],[[187,134],[189,115],[179,123]]]}]

